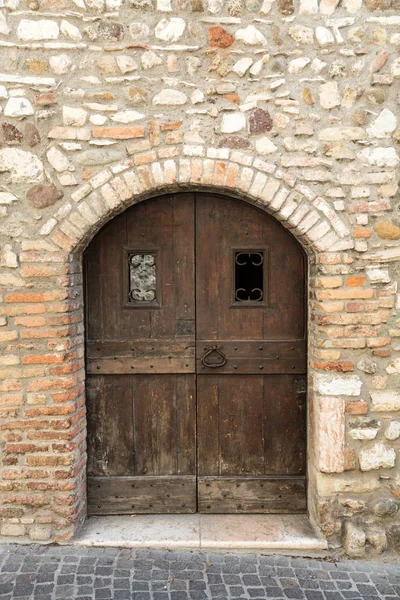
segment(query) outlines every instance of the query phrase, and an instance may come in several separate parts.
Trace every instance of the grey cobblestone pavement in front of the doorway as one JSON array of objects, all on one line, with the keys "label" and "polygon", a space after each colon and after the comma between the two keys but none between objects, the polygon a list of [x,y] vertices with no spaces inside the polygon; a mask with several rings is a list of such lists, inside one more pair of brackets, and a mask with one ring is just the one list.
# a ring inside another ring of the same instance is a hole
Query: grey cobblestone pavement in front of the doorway
[{"label": "grey cobblestone pavement in front of the doorway", "polygon": [[0,561],[2,600],[400,598],[400,562],[12,545]]}]

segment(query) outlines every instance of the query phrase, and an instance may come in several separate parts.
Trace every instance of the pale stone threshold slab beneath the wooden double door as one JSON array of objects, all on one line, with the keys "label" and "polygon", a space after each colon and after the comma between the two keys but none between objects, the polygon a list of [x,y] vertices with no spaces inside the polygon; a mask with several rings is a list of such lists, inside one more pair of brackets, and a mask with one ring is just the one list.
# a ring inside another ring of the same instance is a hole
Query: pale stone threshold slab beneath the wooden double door
[{"label": "pale stone threshold slab beneath the wooden double door", "polygon": [[73,542],[125,548],[323,551],[307,515],[133,515],[89,517]]}]

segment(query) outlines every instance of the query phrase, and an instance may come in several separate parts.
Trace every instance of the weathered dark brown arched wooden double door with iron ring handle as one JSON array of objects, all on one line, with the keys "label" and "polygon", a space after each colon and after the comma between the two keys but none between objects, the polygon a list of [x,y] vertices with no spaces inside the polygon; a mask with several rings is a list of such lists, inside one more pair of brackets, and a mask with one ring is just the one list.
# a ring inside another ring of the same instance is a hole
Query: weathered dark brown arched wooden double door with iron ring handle
[{"label": "weathered dark brown arched wooden double door with iron ring handle", "polygon": [[89,514],[305,510],[305,264],[277,221],[205,193],[96,235]]}]

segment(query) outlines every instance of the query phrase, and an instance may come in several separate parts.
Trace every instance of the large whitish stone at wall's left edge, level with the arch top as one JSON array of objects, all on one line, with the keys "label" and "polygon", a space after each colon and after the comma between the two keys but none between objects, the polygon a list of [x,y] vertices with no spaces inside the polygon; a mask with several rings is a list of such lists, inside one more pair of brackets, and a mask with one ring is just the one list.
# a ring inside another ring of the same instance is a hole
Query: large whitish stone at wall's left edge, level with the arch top
[{"label": "large whitish stone at wall's left edge, level with the arch top", "polygon": [[40,183],[43,163],[32,152],[19,148],[0,149],[0,173],[10,172],[13,183]]}]

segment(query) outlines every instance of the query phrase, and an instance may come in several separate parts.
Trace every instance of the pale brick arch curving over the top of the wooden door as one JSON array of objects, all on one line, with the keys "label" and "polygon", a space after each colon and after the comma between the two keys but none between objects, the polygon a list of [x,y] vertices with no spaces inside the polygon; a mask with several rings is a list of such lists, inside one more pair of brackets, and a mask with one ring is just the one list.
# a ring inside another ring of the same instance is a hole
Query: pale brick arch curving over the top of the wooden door
[{"label": "pale brick arch curving over the top of the wooden door", "polygon": [[72,193],[68,214],[59,222],[50,219],[41,234],[67,252],[79,252],[104,223],[132,204],[197,189],[228,193],[263,208],[308,253],[353,247],[349,228],[331,205],[271,163],[229,148],[209,148],[207,157],[150,158],[137,155],[94,175]]}]

